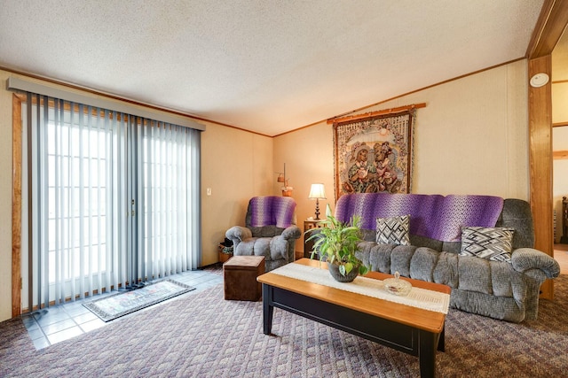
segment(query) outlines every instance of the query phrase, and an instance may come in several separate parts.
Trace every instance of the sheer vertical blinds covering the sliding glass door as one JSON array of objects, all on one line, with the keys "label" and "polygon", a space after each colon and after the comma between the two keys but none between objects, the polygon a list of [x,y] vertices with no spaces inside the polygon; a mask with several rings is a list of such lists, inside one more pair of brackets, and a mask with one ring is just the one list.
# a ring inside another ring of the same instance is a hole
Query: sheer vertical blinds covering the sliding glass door
[{"label": "sheer vertical blinds covering the sliding glass door", "polygon": [[199,266],[200,130],[31,93],[24,106],[24,308]]}]

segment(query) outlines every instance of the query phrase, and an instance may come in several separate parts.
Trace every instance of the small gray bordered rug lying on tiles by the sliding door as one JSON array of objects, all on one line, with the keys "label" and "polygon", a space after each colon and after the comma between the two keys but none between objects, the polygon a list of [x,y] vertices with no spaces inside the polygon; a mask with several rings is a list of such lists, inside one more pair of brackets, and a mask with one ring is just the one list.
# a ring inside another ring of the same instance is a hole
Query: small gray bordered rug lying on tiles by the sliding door
[{"label": "small gray bordered rug lying on tiles by the sliding door", "polygon": [[101,320],[110,321],[130,312],[155,305],[195,288],[172,280],[152,282],[141,289],[116,293],[83,304]]}]

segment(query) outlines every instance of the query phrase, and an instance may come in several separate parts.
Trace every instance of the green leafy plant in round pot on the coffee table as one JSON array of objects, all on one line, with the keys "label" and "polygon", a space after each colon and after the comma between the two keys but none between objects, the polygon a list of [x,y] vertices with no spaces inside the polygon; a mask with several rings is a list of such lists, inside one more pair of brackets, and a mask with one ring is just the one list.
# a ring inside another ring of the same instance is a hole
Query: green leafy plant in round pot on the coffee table
[{"label": "green leafy plant in round pot on the coffee table", "polygon": [[343,223],[331,215],[331,208],[327,204],[327,220],[322,220],[321,228],[308,240],[314,240],[311,258],[316,253],[319,261],[326,261],[329,273],[336,281],[352,282],[359,274],[366,274],[368,267],[363,264],[355,252],[361,242],[359,228],[360,217],[353,217],[350,222]]}]

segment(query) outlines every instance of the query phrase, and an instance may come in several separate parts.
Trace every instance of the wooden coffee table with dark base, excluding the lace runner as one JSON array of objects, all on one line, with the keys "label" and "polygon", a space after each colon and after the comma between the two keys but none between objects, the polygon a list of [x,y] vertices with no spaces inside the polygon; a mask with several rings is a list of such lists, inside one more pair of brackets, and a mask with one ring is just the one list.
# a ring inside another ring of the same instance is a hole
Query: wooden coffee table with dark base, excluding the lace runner
[{"label": "wooden coffee table with dark base, excluding the lace runner", "polygon": [[[292,264],[327,268],[326,263],[301,258]],[[390,274],[371,272],[369,278],[384,280]],[[274,307],[319,321],[352,335],[404,351],[420,359],[422,377],[436,375],[436,351],[444,351],[446,314],[400,305],[342,289],[305,282],[280,274],[258,276],[263,284],[264,334],[272,332]],[[416,288],[450,294],[450,288],[432,282],[405,279]]]}]

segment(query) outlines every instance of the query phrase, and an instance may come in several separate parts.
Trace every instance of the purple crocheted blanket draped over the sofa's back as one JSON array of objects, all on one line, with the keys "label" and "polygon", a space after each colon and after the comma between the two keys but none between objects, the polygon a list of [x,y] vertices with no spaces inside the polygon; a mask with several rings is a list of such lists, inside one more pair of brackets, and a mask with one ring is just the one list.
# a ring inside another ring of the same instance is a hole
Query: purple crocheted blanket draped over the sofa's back
[{"label": "purple crocheted blanket draped over the sofa's back", "polygon": [[471,195],[356,193],[343,195],[335,218],[343,222],[361,217],[361,228],[374,230],[377,218],[410,214],[410,234],[442,242],[460,242],[461,227],[494,227],[503,198]]}]

